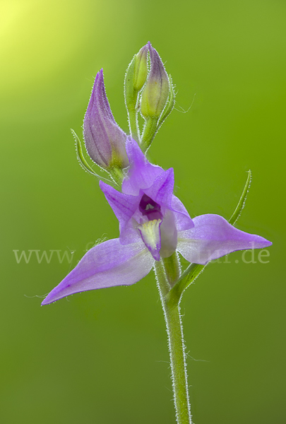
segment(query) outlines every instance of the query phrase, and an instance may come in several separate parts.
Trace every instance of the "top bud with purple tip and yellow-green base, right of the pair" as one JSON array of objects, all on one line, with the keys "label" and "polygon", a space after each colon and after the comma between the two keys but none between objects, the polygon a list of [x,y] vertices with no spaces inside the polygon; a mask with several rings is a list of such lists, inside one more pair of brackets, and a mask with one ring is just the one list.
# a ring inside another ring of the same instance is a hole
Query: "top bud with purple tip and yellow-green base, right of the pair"
[{"label": "top bud with purple tip and yellow-green base, right of the pair", "polygon": [[169,95],[169,78],[159,54],[148,42],[151,69],[141,98],[141,114],[145,119],[158,119]]}]

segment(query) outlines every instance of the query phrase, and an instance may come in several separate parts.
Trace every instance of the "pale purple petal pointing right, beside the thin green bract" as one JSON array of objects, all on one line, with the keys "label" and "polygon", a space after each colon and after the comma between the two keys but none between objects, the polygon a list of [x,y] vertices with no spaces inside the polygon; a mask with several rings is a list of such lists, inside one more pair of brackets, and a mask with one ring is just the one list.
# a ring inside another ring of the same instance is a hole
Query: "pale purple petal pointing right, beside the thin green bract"
[{"label": "pale purple petal pointing right, beside the thin green bract", "polygon": [[272,245],[260,235],[237,230],[219,215],[193,218],[194,228],[178,234],[177,250],[189,262],[207,264],[236,250],[261,249]]}]

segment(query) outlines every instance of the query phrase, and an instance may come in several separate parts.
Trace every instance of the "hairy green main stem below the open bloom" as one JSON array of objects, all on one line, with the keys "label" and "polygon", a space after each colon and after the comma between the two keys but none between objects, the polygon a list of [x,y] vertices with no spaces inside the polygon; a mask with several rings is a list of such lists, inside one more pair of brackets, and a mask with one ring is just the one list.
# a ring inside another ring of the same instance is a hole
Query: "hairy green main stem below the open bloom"
[{"label": "hairy green main stem below the open bloom", "polygon": [[177,423],[191,424],[191,407],[189,404],[186,374],[186,355],[179,301],[170,301],[169,298],[166,297],[170,286],[162,260],[155,264],[155,275],[167,326]]}]

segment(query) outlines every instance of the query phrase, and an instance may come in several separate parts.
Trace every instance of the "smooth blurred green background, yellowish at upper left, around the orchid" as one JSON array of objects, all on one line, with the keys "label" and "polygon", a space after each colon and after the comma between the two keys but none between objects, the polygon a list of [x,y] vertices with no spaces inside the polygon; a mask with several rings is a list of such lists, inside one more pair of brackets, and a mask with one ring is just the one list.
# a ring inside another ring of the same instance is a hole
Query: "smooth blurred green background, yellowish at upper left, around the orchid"
[{"label": "smooth blurred green background, yellowish at upper left, around the orchid", "polygon": [[[47,307],[37,297],[119,234],[70,129],[81,135],[103,67],[127,130],[124,72],[148,40],[178,92],[150,159],[174,167],[191,216],[229,218],[251,168],[238,227],[273,241],[268,264],[234,253],[184,295],[194,423],[285,423],[285,18],[281,0],[1,0],[1,423],[175,422],[151,273]],[[75,253],[17,264],[13,250],[29,249]]]}]

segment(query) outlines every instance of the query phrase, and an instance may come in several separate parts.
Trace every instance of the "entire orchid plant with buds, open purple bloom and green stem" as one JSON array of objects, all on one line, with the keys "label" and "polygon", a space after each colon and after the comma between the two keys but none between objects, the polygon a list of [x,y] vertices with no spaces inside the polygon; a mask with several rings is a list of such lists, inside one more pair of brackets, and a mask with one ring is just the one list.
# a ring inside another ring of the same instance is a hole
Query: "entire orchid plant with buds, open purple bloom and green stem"
[{"label": "entire orchid plant with buds, open purple bloom and green stem", "polygon": [[[150,69],[148,71],[148,57]],[[124,98],[131,136],[117,125],[105,93],[102,70],[97,73],[83,122],[85,147],[94,163],[106,170],[121,192],[102,182],[100,189],[119,220],[119,238],[90,249],[42,305],[73,293],[131,285],[155,271],[167,327],[174,406],[178,424],[191,424],[186,354],[179,304],[181,295],[206,264],[244,249],[268,247],[265,238],[234,228],[249,188],[251,172],[230,221],[206,214],[191,218],[174,196],[174,170],[148,162],[145,152],[174,108],[174,86],[150,42],[134,55],[126,71]],[[145,123],[138,125],[141,112]],[[85,160],[76,136],[83,169],[99,177]],[[112,182],[107,179],[108,182]],[[190,262],[181,273],[179,254]]]}]

